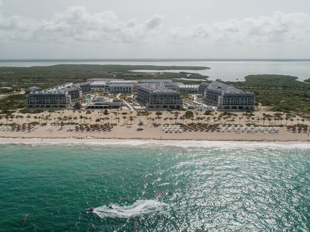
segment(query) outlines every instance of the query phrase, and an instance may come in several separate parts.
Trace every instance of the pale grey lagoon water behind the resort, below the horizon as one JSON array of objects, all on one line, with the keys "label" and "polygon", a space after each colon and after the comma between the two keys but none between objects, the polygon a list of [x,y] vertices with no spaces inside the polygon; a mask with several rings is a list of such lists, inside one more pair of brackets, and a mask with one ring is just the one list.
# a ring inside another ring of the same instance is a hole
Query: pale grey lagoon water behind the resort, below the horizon
[{"label": "pale grey lagoon water behind the resort, below the horizon", "polygon": [[[50,66],[56,64],[120,64],[120,65],[160,65],[160,66],[204,66],[205,70],[166,70],[165,72],[194,72],[209,76],[209,80],[242,81],[250,74],[283,74],[297,76],[299,81],[310,78],[310,60],[269,59],[269,60],[173,60],[173,59],[37,59],[0,60],[0,67]],[[143,70],[142,70],[143,71]],[[144,70],[143,72],[158,72]]]}]

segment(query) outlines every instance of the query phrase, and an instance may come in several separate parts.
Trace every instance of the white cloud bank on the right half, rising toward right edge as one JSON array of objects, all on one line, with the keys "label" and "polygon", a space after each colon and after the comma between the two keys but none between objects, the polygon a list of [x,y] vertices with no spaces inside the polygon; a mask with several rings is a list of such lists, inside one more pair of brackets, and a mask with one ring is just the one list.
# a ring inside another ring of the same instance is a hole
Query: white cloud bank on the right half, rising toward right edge
[{"label": "white cloud bank on the right half, rising toward right edge", "polygon": [[270,16],[231,19],[167,33],[170,43],[259,45],[266,43],[308,43],[310,14],[274,12]]}]

